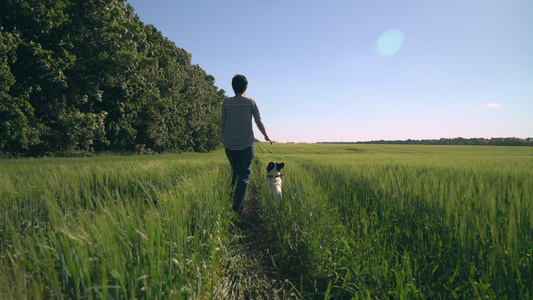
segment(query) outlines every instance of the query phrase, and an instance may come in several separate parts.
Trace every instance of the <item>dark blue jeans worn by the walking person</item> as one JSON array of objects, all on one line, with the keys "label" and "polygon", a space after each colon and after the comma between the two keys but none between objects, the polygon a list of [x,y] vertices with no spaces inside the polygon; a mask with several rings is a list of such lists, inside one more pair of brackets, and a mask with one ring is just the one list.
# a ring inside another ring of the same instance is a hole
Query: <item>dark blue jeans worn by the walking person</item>
[{"label": "dark blue jeans worn by the walking person", "polygon": [[242,150],[226,148],[226,156],[233,171],[231,177],[231,187],[235,189],[233,193],[233,210],[240,213],[243,209],[244,195],[248,189],[248,182],[252,173],[254,146]]}]

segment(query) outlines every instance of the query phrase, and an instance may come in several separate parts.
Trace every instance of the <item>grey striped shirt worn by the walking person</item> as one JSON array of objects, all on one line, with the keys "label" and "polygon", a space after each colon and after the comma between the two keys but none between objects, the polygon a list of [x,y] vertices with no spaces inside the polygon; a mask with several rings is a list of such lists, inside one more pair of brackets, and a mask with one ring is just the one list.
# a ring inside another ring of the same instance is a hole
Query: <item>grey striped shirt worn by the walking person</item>
[{"label": "grey striped shirt worn by the walking person", "polygon": [[265,131],[261,114],[254,99],[248,97],[226,98],[222,102],[222,142],[230,150],[246,149],[254,144],[252,116],[257,128]]}]

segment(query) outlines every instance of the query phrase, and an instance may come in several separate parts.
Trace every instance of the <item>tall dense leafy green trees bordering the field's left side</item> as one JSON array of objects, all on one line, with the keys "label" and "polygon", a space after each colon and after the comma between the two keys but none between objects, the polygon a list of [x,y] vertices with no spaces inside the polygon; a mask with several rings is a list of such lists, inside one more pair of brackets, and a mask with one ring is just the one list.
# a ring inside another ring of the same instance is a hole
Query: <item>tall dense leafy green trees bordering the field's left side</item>
[{"label": "tall dense leafy green trees bordering the field's left side", "polygon": [[0,153],[220,146],[224,90],[126,0],[1,0],[0,82]]}]

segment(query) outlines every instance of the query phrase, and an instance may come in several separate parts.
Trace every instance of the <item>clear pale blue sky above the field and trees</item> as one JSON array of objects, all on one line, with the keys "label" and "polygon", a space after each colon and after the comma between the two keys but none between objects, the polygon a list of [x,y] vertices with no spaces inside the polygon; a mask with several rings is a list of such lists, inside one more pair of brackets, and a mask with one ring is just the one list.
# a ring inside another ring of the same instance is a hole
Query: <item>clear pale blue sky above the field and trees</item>
[{"label": "clear pale blue sky above the field and trees", "polygon": [[533,136],[531,0],[128,3],[277,142]]}]

